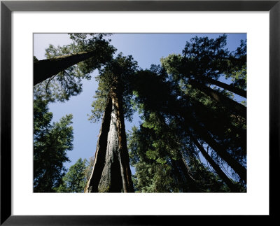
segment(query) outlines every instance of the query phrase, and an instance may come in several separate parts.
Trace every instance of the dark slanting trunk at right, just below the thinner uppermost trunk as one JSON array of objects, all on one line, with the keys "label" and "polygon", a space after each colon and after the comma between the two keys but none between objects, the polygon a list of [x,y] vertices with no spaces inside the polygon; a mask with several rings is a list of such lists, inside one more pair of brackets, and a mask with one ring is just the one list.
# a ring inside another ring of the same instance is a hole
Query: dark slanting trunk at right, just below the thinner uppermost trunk
[{"label": "dark slanting trunk at right, just below the thinner uppermost trunk", "polygon": [[230,109],[230,111],[237,113],[237,115],[240,115],[243,118],[246,118],[246,106],[239,104],[228,97],[225,97],[225,95],[221,94],[220,92],[217,92],[216,90],[213,90],[202,83],[198,83],[195,80],[189,80],[189,83],[193,87],[207,94],[218,103],[223,104],[223,106]]}]

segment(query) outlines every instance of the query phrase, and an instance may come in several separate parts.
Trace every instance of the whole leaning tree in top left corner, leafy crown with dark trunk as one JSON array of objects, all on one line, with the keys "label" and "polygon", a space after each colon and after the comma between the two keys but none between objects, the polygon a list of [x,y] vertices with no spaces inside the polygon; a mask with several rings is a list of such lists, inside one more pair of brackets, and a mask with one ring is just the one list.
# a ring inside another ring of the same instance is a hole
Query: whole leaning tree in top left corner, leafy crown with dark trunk
[{"label": "whole leaning tree in top left corner, leafy crown with dark trunk", "polygon": [[[81,80],[89,80],[90,73],[101,69],[116,51],[116,48],[110,45],[110,39],[106,38],[110,34],[69,35],[73,43],[56,48],[50,44],[45,49],[47,59],[34,60],[34,92],[49,101],[69,100],[69,97],[82,92]],[[59,68],[58,71],[50,71],[42,76],[45,71],[56,68]],[[40,76],[42,78],[35,82]]]}]

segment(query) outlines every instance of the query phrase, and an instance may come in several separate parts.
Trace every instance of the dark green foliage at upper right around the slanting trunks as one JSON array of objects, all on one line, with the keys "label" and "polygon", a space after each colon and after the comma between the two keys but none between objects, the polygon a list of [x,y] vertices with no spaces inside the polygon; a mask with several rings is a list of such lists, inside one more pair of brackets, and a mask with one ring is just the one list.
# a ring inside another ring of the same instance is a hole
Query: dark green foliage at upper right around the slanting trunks
[{"label": "dark green foliage at upper right around the slanting trunks", "polygon": [[[229,52],[225,45],[225,35],[216,40],[195,37],[186,43],[183,57],[169,55],[161,62],[162,67],[170,74],[169,79],[179,84],[181,91],[177,90],[177,95],[181,100],[188,101],[188,108],[193,112],[190,112],[189,118],[195,115],[196,121],[211,132],[214,139],[223,143],[237,161],[246,164],[246,119],[240,119],[207,94],[188,84],[190,78],[209,85],[209,80],[204,78],[223,77],[232,78],[232,86],[246,90],[246,41],[241,41],[234,52]],[[211,88],[226,97],[233,96],[227,90],[213,85]],[[246,100],[243,102],[246,106]],[[183,106],[183,103],[180,105]]]}]

